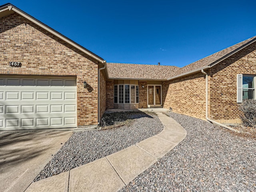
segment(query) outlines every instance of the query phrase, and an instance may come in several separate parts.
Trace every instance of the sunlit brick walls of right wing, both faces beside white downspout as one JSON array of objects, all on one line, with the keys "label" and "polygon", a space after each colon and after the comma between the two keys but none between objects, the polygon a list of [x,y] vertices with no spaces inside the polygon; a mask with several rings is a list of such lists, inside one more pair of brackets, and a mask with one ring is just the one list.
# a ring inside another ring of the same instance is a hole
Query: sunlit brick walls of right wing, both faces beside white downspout
[{"label": "sunlit brick walls of right wing, both faces beside white downspout", "polygon": [[[223,60],[206,71],[208,76],[208,117],[221,122],[240,118],[236,101],[236,75],[256,75],[256,43]],[[205,118],[205,78],[201,72],[163,83],[164,108]]]}]

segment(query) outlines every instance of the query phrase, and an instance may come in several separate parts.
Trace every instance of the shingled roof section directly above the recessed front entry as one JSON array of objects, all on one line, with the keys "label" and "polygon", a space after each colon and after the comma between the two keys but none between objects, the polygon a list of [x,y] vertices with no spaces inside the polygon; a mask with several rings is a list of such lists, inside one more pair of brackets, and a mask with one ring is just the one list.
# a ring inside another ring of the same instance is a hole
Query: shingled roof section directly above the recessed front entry
[{"label": "shingled roof section directly above the recessed front entry", "polygon": [[166,80],[179,69],[176,66],[107,63],[109,78]]}]

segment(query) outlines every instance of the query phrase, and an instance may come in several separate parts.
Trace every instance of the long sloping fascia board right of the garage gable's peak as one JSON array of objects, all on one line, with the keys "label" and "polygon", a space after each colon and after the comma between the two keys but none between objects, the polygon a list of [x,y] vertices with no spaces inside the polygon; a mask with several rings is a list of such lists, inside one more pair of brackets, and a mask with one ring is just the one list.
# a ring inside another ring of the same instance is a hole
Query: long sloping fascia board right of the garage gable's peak
[{"label": "long sloping fascia board right of the garage gable's peak", "polygon": [[[8,6],[9,7],[9,6]],[[9,9],[9,8],[7,8]],[[50,32],[51,34],[57,36],[58,38],[60,38],[61,40],[67,42],[68,44],[74,46],[75,48],[77,48],[78,50],[84,52],[85,54],[89,55],[90,57],[96,59],[97,61],[99,61],[100,63],[104,63],[104,60],[96,57],[95,55],[91,54],[90,52],[88,52],[87,50],[84,50],[83,48],[81,48],[80,46],[78,46],[77,44],[75,44],[74,42],[66,39],[65,37],[63,37],[62,35],[60,35],[59,33],[55,32],[54,30],[48,28],[47,26],[45,26],[44,24],[42,24],[41,22],[38,22],[37,20],[34,20],[33,18],[31,18],[30,16],[28,16],[27,14],[24,14],[23,12],[21,12],[20,10],[17,10],[15,7],[12,7],[13,11],[15,11],[16,13],[20,14],[21,16],[23,16],[24,18],[30,20],[31,22],[33,22],[34,24],[40,26],[41,28],[47,30],[48,32]]]}]

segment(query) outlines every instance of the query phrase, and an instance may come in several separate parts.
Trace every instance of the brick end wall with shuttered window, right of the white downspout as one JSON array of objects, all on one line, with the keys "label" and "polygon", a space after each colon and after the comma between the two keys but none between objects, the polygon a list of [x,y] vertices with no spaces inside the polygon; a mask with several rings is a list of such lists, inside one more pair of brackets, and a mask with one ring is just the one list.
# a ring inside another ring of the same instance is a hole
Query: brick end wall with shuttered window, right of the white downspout
[{"label": "brick end wall with shuttered window, right of the white downspout", "polygon": [[210,70],[210,115],[215,120],[240,118],[236,75],[256,74],[256,43],[223,60]]}]

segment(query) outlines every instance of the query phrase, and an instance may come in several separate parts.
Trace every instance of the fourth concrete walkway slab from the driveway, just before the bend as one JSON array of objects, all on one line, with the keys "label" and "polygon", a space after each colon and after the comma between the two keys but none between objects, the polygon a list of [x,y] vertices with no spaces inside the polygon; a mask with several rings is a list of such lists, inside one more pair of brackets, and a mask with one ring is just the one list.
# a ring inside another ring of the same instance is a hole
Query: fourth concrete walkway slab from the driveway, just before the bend
[{"label": "fourth concrete walkway slab from the driveway, just before the bend", "polygon": [[143,140],[136,145],[158,159],[176,146],[176,144],[156,136]]}]

